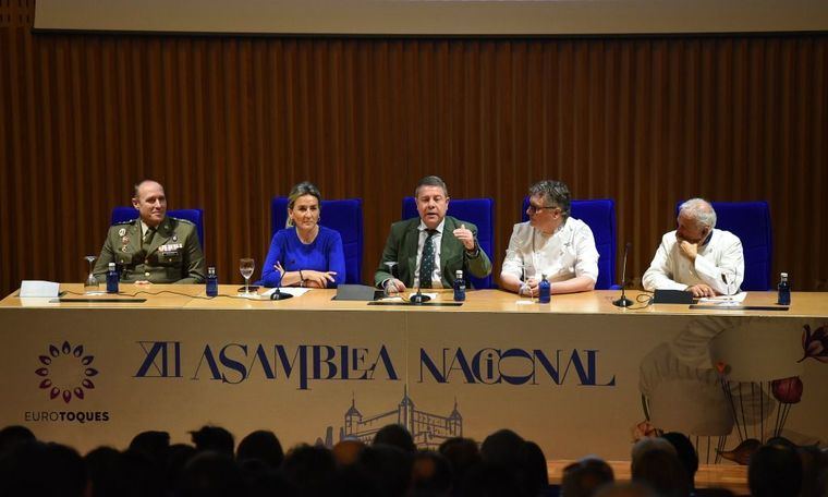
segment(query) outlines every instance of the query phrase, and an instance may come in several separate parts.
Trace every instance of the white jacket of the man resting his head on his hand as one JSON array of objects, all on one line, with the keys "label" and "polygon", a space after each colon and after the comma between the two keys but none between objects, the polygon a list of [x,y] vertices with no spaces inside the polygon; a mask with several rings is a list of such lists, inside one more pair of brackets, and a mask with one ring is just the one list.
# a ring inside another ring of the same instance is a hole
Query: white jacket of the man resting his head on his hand
[{"label": "white jacket of the man resting his head on his hand", "polygon": [[744,254],[739,237],[724,230],[713,230],[710,240],[698,246],[695,263],[683,255],[675,231],[661,238],[656,256],[644,272],[644,290],[686,290],[704,283],[722,295],[739,292],[744,280]]}]

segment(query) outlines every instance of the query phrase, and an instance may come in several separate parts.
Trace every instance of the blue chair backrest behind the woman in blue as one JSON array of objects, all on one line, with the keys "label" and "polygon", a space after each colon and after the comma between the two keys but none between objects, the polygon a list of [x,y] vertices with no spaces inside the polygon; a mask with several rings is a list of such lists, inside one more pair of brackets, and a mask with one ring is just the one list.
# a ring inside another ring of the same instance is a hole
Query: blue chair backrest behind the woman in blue
[{"label": "blue chair backrest behind the woman in blue", "polygon": [[[284,228],[288,221],[289,198],[273,197],[270,201],[270,233]],[[339,231],[342,250],[345,253],[345,283],[362,281],[363,219],[362,198],[322,201],[319,225]]]}]

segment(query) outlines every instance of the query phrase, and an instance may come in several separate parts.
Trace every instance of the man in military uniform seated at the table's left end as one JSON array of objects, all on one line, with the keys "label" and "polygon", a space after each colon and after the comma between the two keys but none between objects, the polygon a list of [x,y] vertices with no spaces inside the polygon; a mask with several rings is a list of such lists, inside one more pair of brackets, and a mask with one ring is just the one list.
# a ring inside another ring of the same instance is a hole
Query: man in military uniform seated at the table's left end
[{"label": "man in military uniform seated at the table's left end", "polygon": [[109,263],[115,263],[123,282],[204,282],[204,253],[196,227],[167,216],[163,186],[142,181],[135,185],[132,205],[139,217],[109,228],[95,263],[98,281],[106,281]]}]

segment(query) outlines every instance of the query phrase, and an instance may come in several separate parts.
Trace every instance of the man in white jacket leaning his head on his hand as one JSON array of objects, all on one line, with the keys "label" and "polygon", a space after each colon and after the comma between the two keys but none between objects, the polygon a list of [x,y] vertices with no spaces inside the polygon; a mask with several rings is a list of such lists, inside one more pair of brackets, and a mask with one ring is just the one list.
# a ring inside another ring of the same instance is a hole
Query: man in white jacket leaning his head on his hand
[{"label": "man in white jacket leaning his head on his hand", "polygon": [[732,295],[744,279],[739,237],[716,229],[710,203],[691,198],[679,208],[678,228],[661,238],[644,272],[645,290],[686,290],[693,296]]}]

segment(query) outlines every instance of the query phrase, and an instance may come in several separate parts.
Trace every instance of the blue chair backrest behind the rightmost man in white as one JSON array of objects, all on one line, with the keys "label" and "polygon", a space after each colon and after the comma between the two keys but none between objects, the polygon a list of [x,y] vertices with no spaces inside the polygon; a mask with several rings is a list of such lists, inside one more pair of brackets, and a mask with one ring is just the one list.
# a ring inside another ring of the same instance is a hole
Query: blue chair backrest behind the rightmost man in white
[{"label": "blue chair backrest behind the rightmost man in white", "polygon": [[[675,205],[679,215],[681,202]],[[716,228],[739,237],[744,251],[744,281],[742,290],[766,291],[772,277],[770,264],[774,255],[770,208],[765,201],[713,202]]]}]

